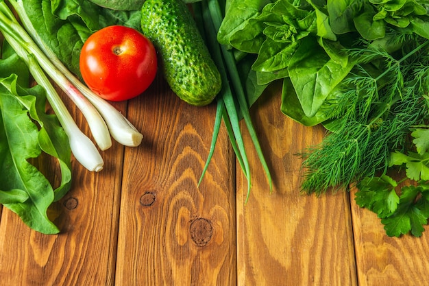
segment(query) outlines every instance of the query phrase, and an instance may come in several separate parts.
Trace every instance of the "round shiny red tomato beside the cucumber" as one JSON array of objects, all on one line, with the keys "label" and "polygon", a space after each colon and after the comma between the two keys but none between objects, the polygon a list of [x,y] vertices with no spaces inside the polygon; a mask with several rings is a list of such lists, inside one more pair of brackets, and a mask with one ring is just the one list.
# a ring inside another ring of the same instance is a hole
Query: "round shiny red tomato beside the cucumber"
[{"label": "round shiny red tomato beside the cucumber", "polygon": [[89,36],[79,58],[86,85],[115,102],[143,93],[154,81],[157,66],[154,45],[136,29],[119,25]]}]

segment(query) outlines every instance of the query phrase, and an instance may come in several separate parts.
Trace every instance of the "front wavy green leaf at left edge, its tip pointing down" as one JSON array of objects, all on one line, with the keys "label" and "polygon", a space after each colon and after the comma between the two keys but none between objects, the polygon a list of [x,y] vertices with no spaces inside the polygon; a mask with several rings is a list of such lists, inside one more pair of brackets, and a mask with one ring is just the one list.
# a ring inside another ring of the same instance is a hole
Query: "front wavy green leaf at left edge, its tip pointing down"
[{"label": "front wavy green leaf at left edge, its tip pointing down", "polygon": [[[38,130],[28,117],[22,104],[34,104],[34,97],[13,95],[5,86],[13,86],[16,75],[1,80],[0,88],[0,139],[1,139],[1,189],[20,190],[28,196],[24,202],[4,204],[17,213],[29,227],[42,233],[58,233],[58,229],[47,217],[47,208],[53,202],[51,184],[36,167],[28,163],[29,158],[40,155]],[[32,102],[33,101],[33,102]]]}]

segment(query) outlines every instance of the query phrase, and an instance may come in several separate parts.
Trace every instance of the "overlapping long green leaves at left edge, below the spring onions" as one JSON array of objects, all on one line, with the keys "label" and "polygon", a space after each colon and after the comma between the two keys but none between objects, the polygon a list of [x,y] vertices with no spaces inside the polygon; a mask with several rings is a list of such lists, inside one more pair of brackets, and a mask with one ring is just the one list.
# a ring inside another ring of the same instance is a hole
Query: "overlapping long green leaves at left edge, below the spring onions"
[{"label": "overlapping long green leaves at left edge, below the spring onions", "polygon": [[[16,58],[16,55],[12,56]],[[5,71],[19,71],[10,66],[10,58],[1,60]],[[17,62],[25,67],[23,62]],[[69,191],[71,151],[64,130],[55,115],[45,113],[45,93],[40,86],[18,84],[28,71],[0,79],[0,202],[17,213],[29,227],[41,233],[58,233],[47,216],[47,208]],[[27,81],[28,84],[28,81]],[[53,189],[45,176],[29,163],[45,152],[57,158],[61,171],[60,186]]]}]

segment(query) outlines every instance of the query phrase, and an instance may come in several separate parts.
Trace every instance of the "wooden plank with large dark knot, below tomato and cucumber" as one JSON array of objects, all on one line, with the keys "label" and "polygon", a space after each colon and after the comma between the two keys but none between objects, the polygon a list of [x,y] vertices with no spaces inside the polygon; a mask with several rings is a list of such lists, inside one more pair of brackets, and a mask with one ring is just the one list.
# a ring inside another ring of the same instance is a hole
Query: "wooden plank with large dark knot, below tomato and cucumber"
[{"label": "wooden plank with large dark knot, below tomato and cucumber", "polygon": [[235,285],[234,154],[216,105],[190,106],[160,77],[129,104],[142,147],[126,150],[116,285]]}]

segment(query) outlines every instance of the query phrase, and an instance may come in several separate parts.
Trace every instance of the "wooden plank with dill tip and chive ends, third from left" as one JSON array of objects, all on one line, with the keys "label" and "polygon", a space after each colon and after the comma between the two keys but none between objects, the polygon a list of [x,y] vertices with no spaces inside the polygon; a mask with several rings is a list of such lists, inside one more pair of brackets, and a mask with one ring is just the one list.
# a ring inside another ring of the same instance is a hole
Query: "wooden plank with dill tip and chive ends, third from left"
[{"label": "wooden plank with dill tip and chive ends, third from left", "polygon": [[[347,193],[320,198],[299,192],[304,147],[323,138],[280,112],[280,86],[257,106],[252,118],[273,175],[273,192],[256,159],[252,190],[237,174],[238,285],[356,285],[350,204]],[[245,135],[247,145],[249,136]],[[250,150],[250,148],[249,148]]]}]

